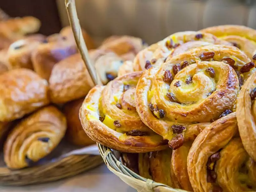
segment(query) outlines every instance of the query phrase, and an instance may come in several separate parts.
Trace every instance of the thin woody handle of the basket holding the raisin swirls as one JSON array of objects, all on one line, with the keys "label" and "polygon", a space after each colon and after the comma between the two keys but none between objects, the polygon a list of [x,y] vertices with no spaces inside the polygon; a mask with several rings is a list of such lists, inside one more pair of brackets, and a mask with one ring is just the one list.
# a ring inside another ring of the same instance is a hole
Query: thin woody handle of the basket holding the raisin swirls
[{"label": "thin woody handle of the basket holding the raisin swirls", "polygon": [[88,49],[86,47],[84,37],[82,34],[82,29],[77,17],[77,12],[76,12],[76,3],[75,0],[65,0],[66,4],[66,9],[68,12],[68,20],[70,23],[70,26],[72,28],[75,40],[76,40],[76,45],[78,47],[78,50],[82,56],[82,59],[84,61],[84,64],[92,78],[92,81],[95,85],[102,85],[100,79],[97,77],[97,73],[95,71],[94,65],[92,64]]}]

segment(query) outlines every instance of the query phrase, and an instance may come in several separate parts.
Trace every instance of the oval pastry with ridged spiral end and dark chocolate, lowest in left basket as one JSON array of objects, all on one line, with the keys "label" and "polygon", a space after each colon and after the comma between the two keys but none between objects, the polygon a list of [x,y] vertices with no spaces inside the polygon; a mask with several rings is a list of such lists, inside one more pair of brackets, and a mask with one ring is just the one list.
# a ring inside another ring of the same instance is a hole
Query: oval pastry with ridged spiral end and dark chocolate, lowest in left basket
[{"label": "oval pastry with ridged spiral end and dark chocolate, lowest in left basket", "polygon": [[48,106],[23,119],[8,135],[4,161],[11,169],[27,167],[48,155],[66,132],[66,118]]}]

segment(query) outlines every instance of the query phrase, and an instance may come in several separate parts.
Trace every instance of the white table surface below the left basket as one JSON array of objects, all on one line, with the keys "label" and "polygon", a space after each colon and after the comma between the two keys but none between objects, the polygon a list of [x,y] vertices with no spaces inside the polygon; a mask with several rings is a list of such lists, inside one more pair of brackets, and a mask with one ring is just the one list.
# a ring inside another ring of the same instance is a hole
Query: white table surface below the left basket
[{"label": "white table surface below the left basket", "polygon": [[136,192],[110,172],[105,164],[80,175],[25,187],[0,187],[0,192]]}]

